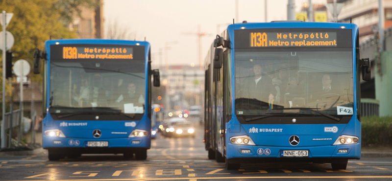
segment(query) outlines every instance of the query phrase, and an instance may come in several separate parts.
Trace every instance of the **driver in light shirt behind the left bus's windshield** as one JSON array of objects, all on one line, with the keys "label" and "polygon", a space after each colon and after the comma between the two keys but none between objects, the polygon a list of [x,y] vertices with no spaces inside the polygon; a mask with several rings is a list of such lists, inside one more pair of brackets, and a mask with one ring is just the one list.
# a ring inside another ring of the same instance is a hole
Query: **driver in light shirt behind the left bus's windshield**
[{"label": "driver in light shirt behind the left bus's windshield", "polygon": [[145,103],[143,94],[136,91],[136,86],[132,82],[128,84],[126,93],[121,94],[116,102],[134,103],[140,106]]}]

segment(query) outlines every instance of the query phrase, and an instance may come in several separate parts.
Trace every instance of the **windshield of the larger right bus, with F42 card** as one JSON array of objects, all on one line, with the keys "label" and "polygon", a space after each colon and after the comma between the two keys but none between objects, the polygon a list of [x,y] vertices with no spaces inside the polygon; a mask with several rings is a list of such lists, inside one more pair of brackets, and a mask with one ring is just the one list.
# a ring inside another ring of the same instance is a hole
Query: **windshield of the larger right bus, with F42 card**
[{"label": "windshield of the larger right bus, with F42 card", "polygon": [[[352,115],[352,69],[351,48],[239,48],[236,114]],[[342,107],[351,113],[339,112]]]}]

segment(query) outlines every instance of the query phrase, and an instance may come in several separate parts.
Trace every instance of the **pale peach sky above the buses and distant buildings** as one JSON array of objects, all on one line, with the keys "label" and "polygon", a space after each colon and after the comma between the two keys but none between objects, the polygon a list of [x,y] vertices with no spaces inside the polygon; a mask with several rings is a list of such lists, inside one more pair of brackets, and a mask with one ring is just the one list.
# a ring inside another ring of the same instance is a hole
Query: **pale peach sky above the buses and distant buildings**
[{"label": "pale peach sky above the buses and distant buildings", "polygon": [[[308,1],[295,0],[296,12]],[[268,0],[267,22],[287,20],[287,3]],[[326,0],[312,3],[325,4]],[[131,34],[131,40],[146,38],[151,44],[152,68],[165,66],[166,60],[169,65],[194,63],[198,67],[198,32],[205,33],[201,39],[204,61],[218,32],[233,23],[235,5],[235,0],[104,0],[103,16],[105,27],[117,23],[119,29]],[[238,0],[239,21],[235,21],[265,22],[264,9],[265,0]]]}]

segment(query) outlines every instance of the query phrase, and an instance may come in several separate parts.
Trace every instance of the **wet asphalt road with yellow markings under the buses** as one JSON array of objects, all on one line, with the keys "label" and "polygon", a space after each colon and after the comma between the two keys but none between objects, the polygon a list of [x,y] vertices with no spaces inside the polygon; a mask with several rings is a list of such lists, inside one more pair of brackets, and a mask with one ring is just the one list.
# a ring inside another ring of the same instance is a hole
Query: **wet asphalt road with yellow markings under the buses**
[{"label": "wet asphalt road with yellow markings under the buses", "polygon": [[32,156],[0,156],[0,181],[144,181],[144,180],[392,180],[392,158],[349,160],[346,170],[331,164],[242,164],[225,170],[224,163],[209,160],[202,128],[196,137],[152,140],[147,160],[124,160],[122,155],[82,155],[49,161],[46,152]]}]

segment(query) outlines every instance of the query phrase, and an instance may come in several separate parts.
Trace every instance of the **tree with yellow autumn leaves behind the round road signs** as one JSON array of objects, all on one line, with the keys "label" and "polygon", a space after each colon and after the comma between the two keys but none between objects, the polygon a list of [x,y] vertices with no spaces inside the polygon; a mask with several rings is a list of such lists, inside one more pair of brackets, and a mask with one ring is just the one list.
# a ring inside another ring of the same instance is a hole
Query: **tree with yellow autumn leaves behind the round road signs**
[{"label": "tree with yellow autumn leaves behind the round road signs", "polygon": [[[46,40],[50,38],[76,38],[74,32],[59,22],[61,14],[56,8],[56,2],[57,0],[0,1],[1,10],[14,14],[6,29],[15,38],[15,43],[11,48],[11,51],[15,55],[13,61],[25,59],[30,63],[30,67],[32,67],[35,48],[44,49],[44,42]],[[2,69],[0,71],[2,72]],[[42,75],[30,73],[29,77],[32,81],[42,82]],[[0,76],[0,82],[2,82],[2,76]],[[2,90],[2,84],[0,84],[0,89]],[[9,97],[10,92],[11,88],[9,88],[7,83],[5,98],[7,107],[11,100]],[[1,97],[1,102],[3,100]],[[2,104],[0,105],[0,109],[1,107]],[[8,111],[8,108],[6,111]],[[0,116],[2,116],[1,113]]]}]

